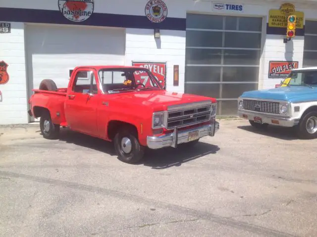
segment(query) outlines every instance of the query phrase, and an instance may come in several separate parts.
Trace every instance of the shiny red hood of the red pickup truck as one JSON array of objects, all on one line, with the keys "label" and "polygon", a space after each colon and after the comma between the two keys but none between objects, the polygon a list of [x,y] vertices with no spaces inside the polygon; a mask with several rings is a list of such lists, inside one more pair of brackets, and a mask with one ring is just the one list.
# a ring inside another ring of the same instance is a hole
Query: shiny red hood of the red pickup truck
[{"label": "shiny red hood of the red pickup truck", "polygon": [[140,91],[140,92],[127,92],[112,94],[111,100],[122,101],[125,104],[128,102],[130,105],[143,105],[146,107],[152,107],[155,111],[166,110],[167,106],[194,103],[204,100],[210,100],[215,103],[214,98],[191,95],[179,92],[168,92],[168,91]]}]

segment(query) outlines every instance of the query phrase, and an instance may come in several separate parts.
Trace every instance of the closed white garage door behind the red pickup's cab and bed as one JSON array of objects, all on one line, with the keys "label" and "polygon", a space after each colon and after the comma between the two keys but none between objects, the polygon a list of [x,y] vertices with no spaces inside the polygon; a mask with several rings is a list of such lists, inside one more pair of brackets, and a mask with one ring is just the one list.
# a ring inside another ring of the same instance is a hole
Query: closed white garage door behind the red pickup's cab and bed
[{"label": "closed white garage door behind the red pickup's cab and bed", "polygon": [[86,26],[27,25],[29,95],[43,79],[67,87],[80,65],[124,65],[125,30]]}]

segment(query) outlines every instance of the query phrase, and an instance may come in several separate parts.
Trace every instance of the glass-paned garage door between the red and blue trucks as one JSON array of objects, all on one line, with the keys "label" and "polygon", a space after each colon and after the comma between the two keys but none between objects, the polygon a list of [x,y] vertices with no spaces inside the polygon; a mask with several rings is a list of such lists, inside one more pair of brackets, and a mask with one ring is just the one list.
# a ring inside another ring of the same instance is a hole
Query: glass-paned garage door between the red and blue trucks
[{"label": "glass-paned garage door between the red and blue trucks", "polygon": [[185,92],[214,97],[218,115],[236,115],[237,98],[257,90],[262,17],[188,13]]}]

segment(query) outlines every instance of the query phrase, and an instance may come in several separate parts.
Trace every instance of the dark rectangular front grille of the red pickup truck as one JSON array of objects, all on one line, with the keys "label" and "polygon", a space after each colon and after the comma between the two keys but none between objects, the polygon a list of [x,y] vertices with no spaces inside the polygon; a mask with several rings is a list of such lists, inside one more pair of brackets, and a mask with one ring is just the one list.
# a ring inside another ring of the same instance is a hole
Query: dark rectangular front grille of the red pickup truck
[{"label": "dark rectangular front grille of the red pickup truck", "polygon": [[[189,107],[189,106],[187,106]],[[167,128],[183,127],[211,119],[211,103],[167,112]]]}]

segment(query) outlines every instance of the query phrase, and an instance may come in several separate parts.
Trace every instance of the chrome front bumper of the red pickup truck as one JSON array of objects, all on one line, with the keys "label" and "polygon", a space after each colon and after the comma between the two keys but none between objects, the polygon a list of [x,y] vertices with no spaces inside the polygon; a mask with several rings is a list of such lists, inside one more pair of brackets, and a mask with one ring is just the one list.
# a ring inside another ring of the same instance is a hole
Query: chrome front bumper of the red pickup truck
[{"label": "chrome front bumper of the red pickup truck", "polygon": [[[188,130],[178,131],[178,129],[174,129],[174,131],[170,134],[161,135],[161,136],[148,136],[147,137],[147,145],[151,149],[159,149],[162,147],[177,147],[178,144],[190,142],[189,141],[189,133],[198,131],[197,139],[204,136],[214,136],[214,134],[219,130],[219,122],[214,121],[213,123],[203,125],[200,127],[195,127]],[[196,139],[196,140],[197,140]]]}]

